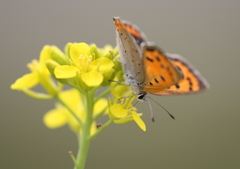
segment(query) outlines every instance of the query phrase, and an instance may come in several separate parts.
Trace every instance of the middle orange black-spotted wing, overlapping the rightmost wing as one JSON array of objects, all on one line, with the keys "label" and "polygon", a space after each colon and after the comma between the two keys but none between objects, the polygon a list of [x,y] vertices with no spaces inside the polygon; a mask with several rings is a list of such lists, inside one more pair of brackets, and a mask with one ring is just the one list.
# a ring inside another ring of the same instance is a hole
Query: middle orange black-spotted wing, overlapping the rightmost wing
[{"label": "middle orange black-spotted wing, overlapping the rightmost wing", "polygon": [[142,91],[156,93],[177,84],[183,78],[177,67],[153,43],[146,43],[142,49],[146,73]]}]

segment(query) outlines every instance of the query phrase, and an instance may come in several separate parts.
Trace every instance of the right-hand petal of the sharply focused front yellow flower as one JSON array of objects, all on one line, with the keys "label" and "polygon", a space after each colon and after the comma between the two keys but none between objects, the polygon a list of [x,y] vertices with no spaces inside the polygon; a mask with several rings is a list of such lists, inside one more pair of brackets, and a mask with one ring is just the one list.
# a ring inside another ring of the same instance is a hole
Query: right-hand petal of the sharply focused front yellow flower
[{"label": "right-hand petal of the sharply focused front yellow flower", "polygon": [[113,62],[108,58],[99,58],[91,62],[91,69],[96,70],[99,67],[99,71],[103,71],[114,66]]}]

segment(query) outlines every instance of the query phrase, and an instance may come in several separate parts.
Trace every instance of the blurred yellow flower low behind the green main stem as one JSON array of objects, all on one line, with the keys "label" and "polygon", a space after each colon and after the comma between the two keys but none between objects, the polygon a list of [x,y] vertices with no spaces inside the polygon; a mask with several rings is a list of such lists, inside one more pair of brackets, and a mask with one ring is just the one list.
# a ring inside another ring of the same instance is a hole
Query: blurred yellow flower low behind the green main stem
[{"label": "blurred yellow flower low behind the green main stem", "polygon": [[[61,100],[76,114],[76,116],[84,123],[86,118],[86,109],[83,105],[79,92],[76,89],[63,91],[59,94]],[[107,107],[106,99],[100,99],[94,106],[94,115],[101,113]],[[69,110],[57,104],[55,109],[48,111],[43,118],[44,124],[51,129],[59,128],[65,124],[76,133],[81,133],[81,126],[69,112]],[[96,123],[91,127],[91,134],[96,131]]]}]

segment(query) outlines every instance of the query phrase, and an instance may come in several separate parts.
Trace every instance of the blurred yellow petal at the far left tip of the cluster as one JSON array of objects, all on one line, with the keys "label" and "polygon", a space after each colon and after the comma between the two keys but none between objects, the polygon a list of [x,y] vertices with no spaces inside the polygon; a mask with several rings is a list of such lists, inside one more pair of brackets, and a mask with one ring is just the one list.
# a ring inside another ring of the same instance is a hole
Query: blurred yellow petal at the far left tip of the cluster
[{"label": "blurred yellow petal at the far left tip of the cluster", "polygon": [[36,86],[37,83],[39,83],[38,74],[37,72],[33,72],[17,79],[15,83],[11,85],[11,89],[13,90],[28,89]]}]

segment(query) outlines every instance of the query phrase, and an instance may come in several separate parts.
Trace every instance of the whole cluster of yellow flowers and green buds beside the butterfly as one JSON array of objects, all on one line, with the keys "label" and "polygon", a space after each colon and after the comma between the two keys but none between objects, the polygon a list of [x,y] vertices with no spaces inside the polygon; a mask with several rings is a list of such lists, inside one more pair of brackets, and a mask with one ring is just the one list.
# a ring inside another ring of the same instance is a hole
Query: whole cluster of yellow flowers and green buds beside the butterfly
[{"label": "whole cluster of yellow flowers and green buds beside the butterfly", "polygon": [[[68,124],[72,131],[81,135],[89,127],[91,138],[99,134],[112,122],[124,124],[135,121],[142,129],[146,126],[132,106],[135,97],[119,100],[131,95],[128,86],[111,82],[123,81],[118,51],[111,46],[97,48],[86,43],[69,43],[62,52],[56,46],[45,46],[39,60],[27,66],[30,73],[17,79],[11,89],[20,90],[36,99],[56,99],[55,109],[48,111],[43,118],[49,128]],[[45,93],[33,88],[40,85]],[[63,90],[63,86],[71,89]],[[101,87],[108,87],[101,94]],[[112,94],[108,99],[104,97]],[[109,121],[97,128],[96,120],[108,115]]]}]

